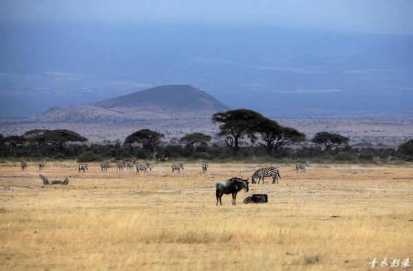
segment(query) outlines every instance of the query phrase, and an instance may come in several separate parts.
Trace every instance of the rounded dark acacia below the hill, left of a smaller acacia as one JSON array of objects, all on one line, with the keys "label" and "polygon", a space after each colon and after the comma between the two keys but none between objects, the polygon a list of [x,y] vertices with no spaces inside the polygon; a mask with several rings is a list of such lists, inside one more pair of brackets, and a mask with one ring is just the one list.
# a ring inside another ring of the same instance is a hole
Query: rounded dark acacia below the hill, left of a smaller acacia
[{"label": "rounded dark acacia below the hill, left of a smaller acacia", "polygon": [[151,131],[150,129],[142,129],[128,135],[125,138],[125,144],[139,144],[142,149],[149,149],[153,153],[153,160],[156,160],[156,155],[158,154],[157,148],[164,137],[165,135],[163,133]]}]

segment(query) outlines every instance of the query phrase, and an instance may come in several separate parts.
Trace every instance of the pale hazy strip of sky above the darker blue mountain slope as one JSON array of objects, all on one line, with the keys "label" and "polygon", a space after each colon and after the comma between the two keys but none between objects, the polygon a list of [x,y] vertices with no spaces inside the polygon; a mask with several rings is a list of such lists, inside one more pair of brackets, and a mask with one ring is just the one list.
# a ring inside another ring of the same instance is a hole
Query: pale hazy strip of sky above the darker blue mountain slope
[{"label": "pale hazy strip of sky above the darker blue mountain slope", "polygon": [[127,22],[273,25],[413,34],[410,0],[0,0],[0,22]]}]

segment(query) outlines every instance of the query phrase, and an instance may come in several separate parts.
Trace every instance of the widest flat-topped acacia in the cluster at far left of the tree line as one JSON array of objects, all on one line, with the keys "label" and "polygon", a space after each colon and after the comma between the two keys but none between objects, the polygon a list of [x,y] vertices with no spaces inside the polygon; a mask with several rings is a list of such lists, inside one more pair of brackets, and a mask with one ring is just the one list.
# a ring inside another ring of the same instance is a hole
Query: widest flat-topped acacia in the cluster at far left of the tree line
[{"label": "widest flat-topped acacia in the cluster at far left of the tree line", "polygon": [[87,138],[84,138],[78,133],[66,129],[60,130],[45,130],[43,133],[39,133],[34,138],[36,142],[45,142],[47,144],[52,144],[59,148],[62,152],[65,149],[67,142],[86,142]]}]

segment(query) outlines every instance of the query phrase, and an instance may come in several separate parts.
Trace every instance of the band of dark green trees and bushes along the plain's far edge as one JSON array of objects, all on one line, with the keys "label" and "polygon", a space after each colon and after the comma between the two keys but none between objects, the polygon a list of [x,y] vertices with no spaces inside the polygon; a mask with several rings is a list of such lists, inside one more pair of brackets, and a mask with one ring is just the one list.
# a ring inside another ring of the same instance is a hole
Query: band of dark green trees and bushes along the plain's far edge
[{"label": "band of dark green trees and bushes along the plain's far edge", "polygon": [[[34,129],[23,135],[3,137],[0,134],[0,156],[3,158],[77,158],[79,161],[127,158],[167,160],[187,158],[202,160],[251,159],[254,157],[289,159],[334,159],[339,161],[386,160],[390,157],[413,160],[413,140],[399,149],[352,148],[350,139],[336,133],[321,131],[310,141],[317,147],[293,149],[292,143],[306,141],[306,135],[295,128],[283,127],[248,109],[215,113],[211,121],[219,124],[221,142],[211,144],[212,136],[189,133],[180,138],[182,144],[167,144],[165,135],[141,129],[125,138],[123,144],[85,144],[87,138],[66,130]],[[246,147],[240,141],[248,141]]]}]

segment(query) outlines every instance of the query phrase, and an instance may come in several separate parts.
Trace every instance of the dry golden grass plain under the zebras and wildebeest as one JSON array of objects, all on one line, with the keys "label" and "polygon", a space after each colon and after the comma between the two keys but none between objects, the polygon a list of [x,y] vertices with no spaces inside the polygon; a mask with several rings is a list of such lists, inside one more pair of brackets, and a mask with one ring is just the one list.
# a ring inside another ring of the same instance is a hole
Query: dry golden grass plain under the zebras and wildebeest
[{"label": "dry golden grass plain under the zebras and wildebeest", "polygon": [[[260,164],[154,164],[85,175],[75,162],[0,165],[0,270],[368,270],[413,257],[413,169],[279,164],[279,184],[250,184],[215,206],[215,182]],[[354,171],[356,173],[354,173]],[[268,204],[243,204],[268,193]],[[335,217],[338,216],[338,217]]]}]

